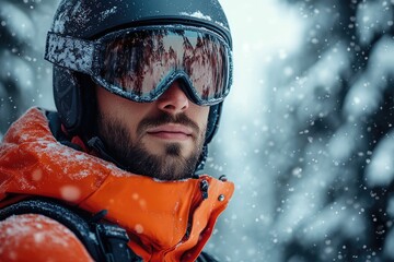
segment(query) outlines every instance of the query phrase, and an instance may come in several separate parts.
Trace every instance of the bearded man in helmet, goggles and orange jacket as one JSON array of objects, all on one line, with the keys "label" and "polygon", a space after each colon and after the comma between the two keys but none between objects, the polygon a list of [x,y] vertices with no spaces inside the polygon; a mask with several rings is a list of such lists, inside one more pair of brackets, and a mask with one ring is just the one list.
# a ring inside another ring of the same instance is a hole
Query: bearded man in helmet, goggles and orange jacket
[{"label": "bearded man in helmet, goggles and orange jacket", "polygon": [[45,58],[57,112],[0,147],[0,260],[211,260],[233,193],[197,175],[231,85],[218,1],[65,0]]}]

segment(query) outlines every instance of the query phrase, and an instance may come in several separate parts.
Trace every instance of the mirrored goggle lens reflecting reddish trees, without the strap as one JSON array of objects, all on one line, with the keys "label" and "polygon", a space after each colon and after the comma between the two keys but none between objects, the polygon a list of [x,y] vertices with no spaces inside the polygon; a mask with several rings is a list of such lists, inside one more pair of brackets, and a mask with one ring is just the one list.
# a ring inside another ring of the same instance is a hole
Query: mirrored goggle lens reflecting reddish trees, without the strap
[{"label": "mirrored goggle lens reflecting reddish trees, without the strap", "polygon": [[221,102],[230,88],[230,49],[220,36],[185,27],[144,28],[108,35],[99,78],[136,102],[157,99],[175,79],[199,105]]}]

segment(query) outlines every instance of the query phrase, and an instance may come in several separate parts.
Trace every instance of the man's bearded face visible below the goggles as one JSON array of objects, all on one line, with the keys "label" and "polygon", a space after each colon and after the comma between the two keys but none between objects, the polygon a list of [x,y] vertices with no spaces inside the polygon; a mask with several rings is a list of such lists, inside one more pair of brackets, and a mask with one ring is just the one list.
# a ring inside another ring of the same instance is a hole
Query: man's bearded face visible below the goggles
[{"label": "man's bearded face visible below the goggles", "polygon": [[201,154],[209,107],[188,100],[178,82],[152,103],[135,103],[96,87],[99,135],[132,172],[188,178]]}]

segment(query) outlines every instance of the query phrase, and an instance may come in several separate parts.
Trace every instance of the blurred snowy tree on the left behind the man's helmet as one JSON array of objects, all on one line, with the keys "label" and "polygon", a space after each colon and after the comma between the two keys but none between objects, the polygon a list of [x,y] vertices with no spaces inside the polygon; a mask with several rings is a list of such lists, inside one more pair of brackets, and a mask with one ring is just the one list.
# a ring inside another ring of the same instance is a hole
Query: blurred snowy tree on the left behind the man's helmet
[{"label": "blurred snowy tree on the left behind the man's helmet", "polygon": [[0,1],[0,139],[11,122],[48,92],[45,33],[58,1]]}]

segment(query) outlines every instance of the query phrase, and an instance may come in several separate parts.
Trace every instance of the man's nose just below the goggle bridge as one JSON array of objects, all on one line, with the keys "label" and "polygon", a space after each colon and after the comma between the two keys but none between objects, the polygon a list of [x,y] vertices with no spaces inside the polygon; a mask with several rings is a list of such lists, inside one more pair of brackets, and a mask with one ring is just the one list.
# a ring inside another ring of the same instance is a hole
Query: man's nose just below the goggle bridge
[{"label": "man's nose just below the goggle bridge", "polygon": [[177,115],[189,107],[189,100],[178,81],[174,81],[158,99],[158,107],[165,112]]}]

